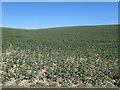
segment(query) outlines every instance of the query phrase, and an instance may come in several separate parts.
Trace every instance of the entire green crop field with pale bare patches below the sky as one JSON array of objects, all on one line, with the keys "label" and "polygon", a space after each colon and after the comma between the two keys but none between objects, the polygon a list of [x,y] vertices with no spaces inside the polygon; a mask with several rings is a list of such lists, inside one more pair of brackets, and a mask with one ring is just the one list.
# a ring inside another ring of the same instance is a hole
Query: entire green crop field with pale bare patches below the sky
[{"label": "entire green crop field with pale bare patches below the sky", "polygon": [[2,29],[5,87],[118,87],[118,26]]}]

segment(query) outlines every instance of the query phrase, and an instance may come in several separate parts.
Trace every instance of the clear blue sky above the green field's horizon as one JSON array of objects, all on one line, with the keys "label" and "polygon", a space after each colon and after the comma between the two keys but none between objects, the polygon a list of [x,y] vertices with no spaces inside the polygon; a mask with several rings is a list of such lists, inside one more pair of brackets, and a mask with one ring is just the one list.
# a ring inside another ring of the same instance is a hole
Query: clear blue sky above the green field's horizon
[{"label": "clear blue sky above the green field's horizon", "polygon": [[117,2],[4,2],[2,26],[50,28],[118,23]]}]

